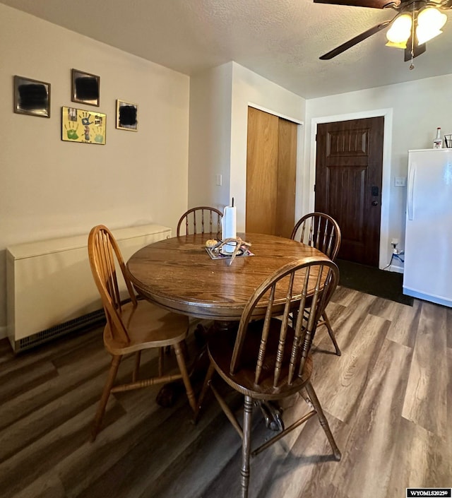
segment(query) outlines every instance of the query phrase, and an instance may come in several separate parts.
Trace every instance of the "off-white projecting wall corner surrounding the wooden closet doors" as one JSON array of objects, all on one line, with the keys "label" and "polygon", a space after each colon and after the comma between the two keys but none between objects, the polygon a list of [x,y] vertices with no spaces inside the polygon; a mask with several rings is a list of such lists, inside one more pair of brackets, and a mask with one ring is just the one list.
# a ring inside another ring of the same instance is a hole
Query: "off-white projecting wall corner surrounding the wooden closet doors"
[{"label": "off-white projecting wall corner surrounding the wooden closet doors", "polygon": [[[239,231],[245,227],[249,105],[296,122],[304,118],[302,97],[235,62],[191,78],[189,206],[222,208],[234,197]],[[303,148],[304,133],[299,131],[299,174]],[[222,186],[215,184],[217,174]]]}]

